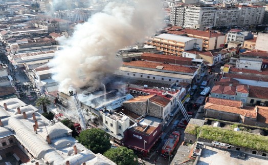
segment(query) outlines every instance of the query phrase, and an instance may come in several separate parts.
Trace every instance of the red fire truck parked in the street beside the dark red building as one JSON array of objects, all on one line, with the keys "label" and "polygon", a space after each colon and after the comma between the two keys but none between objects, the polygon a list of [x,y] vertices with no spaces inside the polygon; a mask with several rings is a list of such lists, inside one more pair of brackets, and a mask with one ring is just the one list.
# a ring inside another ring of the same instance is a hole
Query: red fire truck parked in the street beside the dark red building
[{"label": "red fire truck parked in the street beside the dark red building", "polygon": [[173,131],[171,135],[169,135],[168,140],[165,142],[165,145],[162,148],[162,155],[171,155],[177,146],[178,141],[180,141],[180,132]]}]

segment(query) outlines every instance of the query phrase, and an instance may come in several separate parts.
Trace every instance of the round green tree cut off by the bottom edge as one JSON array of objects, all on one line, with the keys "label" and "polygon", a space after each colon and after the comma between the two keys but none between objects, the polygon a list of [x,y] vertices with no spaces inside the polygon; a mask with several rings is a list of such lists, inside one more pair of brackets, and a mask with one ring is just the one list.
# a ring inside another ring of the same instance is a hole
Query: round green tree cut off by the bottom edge
[{"label": "round green tree cut off by the bottom edge", "polygon": [[138,164],[138,156],[134,154],[133,150],[126,147],[111,148],[103,155],[118,165]]}]

